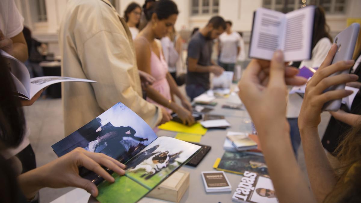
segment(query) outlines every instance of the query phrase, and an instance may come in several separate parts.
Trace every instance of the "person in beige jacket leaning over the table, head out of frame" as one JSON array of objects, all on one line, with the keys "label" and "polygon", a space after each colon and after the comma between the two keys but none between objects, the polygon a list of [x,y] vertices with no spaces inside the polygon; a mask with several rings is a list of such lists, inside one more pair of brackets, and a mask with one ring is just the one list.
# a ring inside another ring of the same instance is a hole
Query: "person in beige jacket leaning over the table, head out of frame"
[{"label": "person in beige jacket leaning over the table, head out of frame", "polygon": [[148,103],[126,22],[108,0],[69,0],[59,30],[61,75],[97,83],[63,83],[65,135],[118,102],[152,128],[170,120],[164,108]]}]

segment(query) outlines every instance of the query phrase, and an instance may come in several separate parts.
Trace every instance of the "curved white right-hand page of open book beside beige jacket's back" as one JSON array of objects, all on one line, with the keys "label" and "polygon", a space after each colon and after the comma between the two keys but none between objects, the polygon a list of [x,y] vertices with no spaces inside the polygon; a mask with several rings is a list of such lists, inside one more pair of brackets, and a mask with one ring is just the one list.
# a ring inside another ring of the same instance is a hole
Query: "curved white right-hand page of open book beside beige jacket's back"
[{"label": "curved white right-hand page of open book beside beige jacket's back", "polygon": [[60,77],[60,76],[44,76],[44,77],[31,78],[29,99],[31,99],[36,93],[38,93],[43,88],[59,82],[96,82],[96,81],[81,79],[81,78]]}]

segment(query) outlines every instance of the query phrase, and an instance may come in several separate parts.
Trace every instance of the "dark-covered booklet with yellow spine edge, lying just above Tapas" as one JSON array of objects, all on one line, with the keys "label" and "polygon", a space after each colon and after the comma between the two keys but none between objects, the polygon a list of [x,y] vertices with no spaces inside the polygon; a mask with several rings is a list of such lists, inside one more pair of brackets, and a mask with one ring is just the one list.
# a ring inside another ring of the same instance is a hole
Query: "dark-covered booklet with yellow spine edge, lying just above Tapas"
[{"label": "dark-covered booklet with yellow spine edge, lying just above Tapas", "polygon": [[268,175],[268,167],[261,153],[228,152],[222,158],[216,159],[213,168],[230,173],[243,174],[245,170]]}]

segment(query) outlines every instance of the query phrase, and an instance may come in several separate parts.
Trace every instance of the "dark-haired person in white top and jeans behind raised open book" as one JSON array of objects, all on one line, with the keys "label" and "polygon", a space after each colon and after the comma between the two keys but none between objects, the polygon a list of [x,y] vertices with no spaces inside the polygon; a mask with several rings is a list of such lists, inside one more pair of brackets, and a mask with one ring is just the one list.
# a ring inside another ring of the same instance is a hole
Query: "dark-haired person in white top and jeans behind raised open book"
[{"label": "dark-haired person in white top and jeans behind raised open book", "polygon": [[[318,68],[322,61],[326,58],[328,51],[332,46],[332,38],[330,36],[330,27],[326,23],[325,11],[321,7],[315,8],[314,25],[312,34],[312,55],[310,60],[300,62],[299,68],[304,66],[309,68]],[[297,63],[292,64],[292,66]],[[291,94],[287,104],[287,120],[290,124],[290,135],[293,151],[297,157],[297,150],[301,143],[300,131],[298,128],[298,116],[300,114],[303,98],[298,94]]]}]

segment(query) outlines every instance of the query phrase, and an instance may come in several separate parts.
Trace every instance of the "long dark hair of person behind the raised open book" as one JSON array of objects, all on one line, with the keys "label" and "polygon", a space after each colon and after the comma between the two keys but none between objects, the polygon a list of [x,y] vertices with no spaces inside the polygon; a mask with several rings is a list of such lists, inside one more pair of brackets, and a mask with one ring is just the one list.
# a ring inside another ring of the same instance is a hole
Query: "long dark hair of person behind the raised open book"
[{"label": "long dark hair of person behind the raised open book", "polygon": [[[312,34],[312,49],[316,46],[317,42],[322,38],[329,38],[332,42],[332,37],[329,34],[330,27],[326,23],[325,10],[322,7],[315,8],[313,34]],[[312,50],[311,49],[311,50]]]}]

